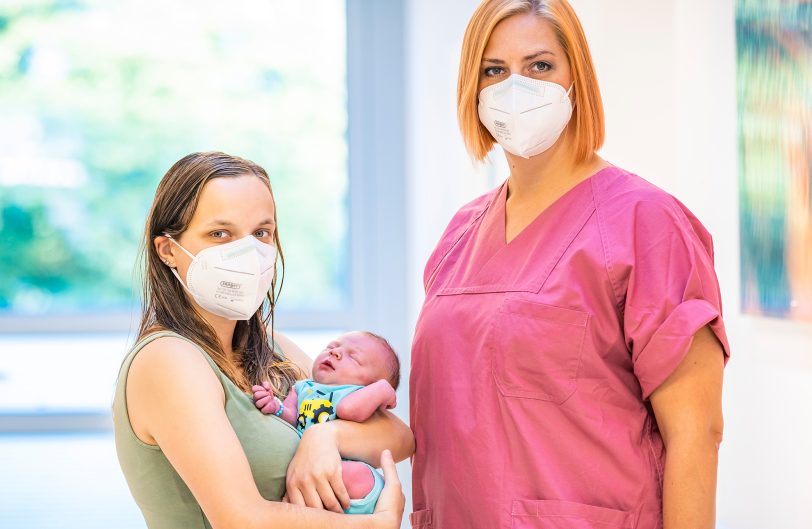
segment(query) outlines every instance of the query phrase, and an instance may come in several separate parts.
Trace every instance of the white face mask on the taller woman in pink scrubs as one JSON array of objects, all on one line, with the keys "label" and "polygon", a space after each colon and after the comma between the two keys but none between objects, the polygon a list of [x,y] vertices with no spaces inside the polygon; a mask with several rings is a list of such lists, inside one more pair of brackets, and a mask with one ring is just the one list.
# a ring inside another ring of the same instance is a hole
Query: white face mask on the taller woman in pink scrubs
[{"label": "white face mask on the taller woman in pink scrubs", "polygon": [[571,115],[569,90],[557,83],[512,74],[479,93],[479,120],[503,149],[522,158],[552,147]]}]

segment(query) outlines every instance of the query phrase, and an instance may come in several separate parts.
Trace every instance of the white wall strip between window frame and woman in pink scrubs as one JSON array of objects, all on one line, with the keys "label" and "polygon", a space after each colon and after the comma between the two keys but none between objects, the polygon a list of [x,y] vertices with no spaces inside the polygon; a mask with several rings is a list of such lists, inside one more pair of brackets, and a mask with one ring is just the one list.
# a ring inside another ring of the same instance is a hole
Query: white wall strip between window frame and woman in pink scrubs
[{"label": "white wall strip between window frame and woman in pink scrubs", "polygon": [[457,66],[477,2],[410,0],[406,28],[406,182],[413,319],[423,301],[423,265],[454,212],[488,189],[457,128]]}]

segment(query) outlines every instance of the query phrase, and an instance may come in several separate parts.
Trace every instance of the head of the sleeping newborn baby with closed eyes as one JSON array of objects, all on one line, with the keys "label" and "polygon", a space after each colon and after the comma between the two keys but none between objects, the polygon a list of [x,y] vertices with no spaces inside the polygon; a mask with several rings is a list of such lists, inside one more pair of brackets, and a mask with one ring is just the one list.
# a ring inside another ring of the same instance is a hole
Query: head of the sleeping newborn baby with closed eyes
[{"label": "head of the sleeping newborn baby with closed eyes", "polygon": [[321,384],[366,386],[385,379],[400,384],[400,360],[384,338],[367,331],[342,334],[313,361],[313,380]]}]

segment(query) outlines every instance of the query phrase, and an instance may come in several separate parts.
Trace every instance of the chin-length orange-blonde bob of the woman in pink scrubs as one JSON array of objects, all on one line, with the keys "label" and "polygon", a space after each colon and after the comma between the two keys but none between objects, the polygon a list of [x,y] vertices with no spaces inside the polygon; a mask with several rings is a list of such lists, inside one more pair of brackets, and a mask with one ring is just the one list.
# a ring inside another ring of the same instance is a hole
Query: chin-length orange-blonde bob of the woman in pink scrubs
[{"label": "chin-length orange-blonde bob of the woman in pink scrubs", "polygon": [[457,117],[465,146],[482,161],[496,142],[479,121],[479,77],[482,54],[499,22],[513,15],[532,13],[552,24],[570,64],[573,111],[569,132],[580,163],[603,145],[604,119],[598,79],[584,30],[567,0],[484,0],[474,12],[462,41],[457,80]]}]

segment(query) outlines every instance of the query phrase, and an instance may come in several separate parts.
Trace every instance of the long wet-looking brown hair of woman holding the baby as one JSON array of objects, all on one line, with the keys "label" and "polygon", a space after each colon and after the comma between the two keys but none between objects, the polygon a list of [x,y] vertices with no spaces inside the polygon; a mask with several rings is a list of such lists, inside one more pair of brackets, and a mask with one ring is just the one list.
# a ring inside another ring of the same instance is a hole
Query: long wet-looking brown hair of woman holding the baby
[{"label": "long wet-looking brown hair of woman holding the baby", "polygon": [[[143,311],[139,339],[158,331],[170,330],[192,340],[203,348],[217,366],[240,389],[248,391],[252,384],[270,381],[278,395],[288,393],[294,382],[303,377],[302,371],[285,360],[268,340],[267,326],[273,332],[274,308],[285,276],[285,257],[279,242],[279,229],[274,228],[273,240],[279,251],[281,273],[274,271],[268,292],[268,303],[257,309],[249,320],[238,321],[234,329],[232,348],[239,359],[234,365],[226,357],[214,329],[195,310],[183,286],[170,268],[161,262],[153,241],[168,234],[177,238],[188,228],[197,209],[203,186],[214,178],[254,175],[268,186],[273,197],[268,174],[249,160],[222,152],[189,154],[169,168],[155,192],[155,200],[147,217],[141,249],[143,261]],[[276,222],[274,211],[274,222]],[[277,288],[277,277],[279,283]]]}]

